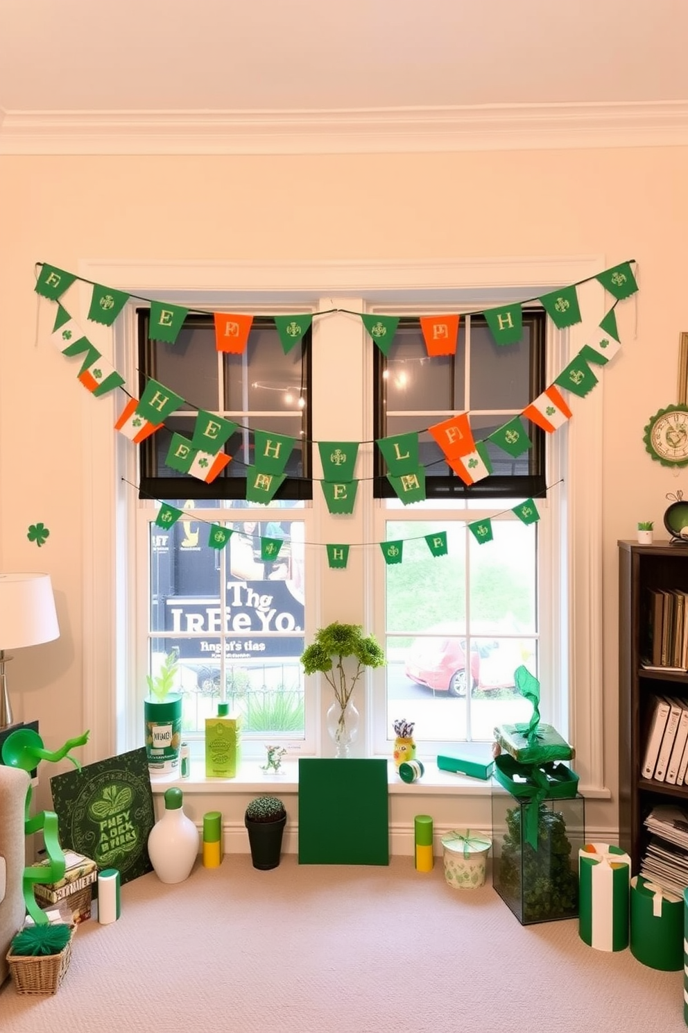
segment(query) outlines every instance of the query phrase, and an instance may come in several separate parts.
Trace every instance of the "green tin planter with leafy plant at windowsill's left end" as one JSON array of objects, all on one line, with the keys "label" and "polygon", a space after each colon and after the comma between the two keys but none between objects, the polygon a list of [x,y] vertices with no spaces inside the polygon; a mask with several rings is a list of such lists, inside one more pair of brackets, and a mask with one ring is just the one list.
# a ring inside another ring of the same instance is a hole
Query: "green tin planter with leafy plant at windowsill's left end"
[{"label": "green tin planter with leafy plant at windowsill's left end", "polygon": [[165,656],[156,675],[146,675],[149,695],[143,700],[145,752],[152,775],[175,775],[182,746],[182,692],[177,684],[179,651]]}]

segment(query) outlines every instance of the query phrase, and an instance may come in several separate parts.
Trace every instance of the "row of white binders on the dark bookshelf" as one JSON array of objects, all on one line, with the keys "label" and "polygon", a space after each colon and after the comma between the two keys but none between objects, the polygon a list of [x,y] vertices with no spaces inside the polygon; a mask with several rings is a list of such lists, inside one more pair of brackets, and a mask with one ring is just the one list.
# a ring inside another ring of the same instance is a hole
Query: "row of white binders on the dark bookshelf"
[{"label": "row of white binders on the dark bookshelf", "polygon": [[653,695],[650,705],[641,774],[667,785],[688,785],[688,699]]}]

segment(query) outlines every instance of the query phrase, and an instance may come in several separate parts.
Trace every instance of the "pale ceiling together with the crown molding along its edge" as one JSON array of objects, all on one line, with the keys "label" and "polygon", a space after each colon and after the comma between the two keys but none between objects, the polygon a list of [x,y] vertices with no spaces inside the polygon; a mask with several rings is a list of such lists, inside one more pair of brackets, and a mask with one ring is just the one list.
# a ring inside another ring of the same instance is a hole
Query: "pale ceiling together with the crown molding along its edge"
[{"label": "pale ceiling together with the crown molding along its edge", "polygon": [[1,0],[0,153],[685,144],[687,44],[686,0]]}]

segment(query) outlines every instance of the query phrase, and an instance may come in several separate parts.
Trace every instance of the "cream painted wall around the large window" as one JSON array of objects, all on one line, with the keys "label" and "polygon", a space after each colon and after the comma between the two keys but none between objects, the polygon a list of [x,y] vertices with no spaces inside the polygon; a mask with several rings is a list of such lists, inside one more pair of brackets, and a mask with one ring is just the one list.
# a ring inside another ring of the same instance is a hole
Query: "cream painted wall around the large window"
[{"label": "cream painted wall around the large window", "polygon": [[[52,307],[36,305],[35,262],[635,258],[641,293],[618,310],[623,349],[604,375],[600,441],[605,782],[616,794],[616,542],[640,519],[661,529],[667,492],[688,495],[688,474],[653,463],[642,440],[649,415],[676,400],[688,330],[687,182],[682,148],[0,158],[0,569],[47,570],[62,628],[58,641],[12,661],[15,716],[39,718],[50,747],[83,730],[80,399],[62,389],[64,361],[44,344]],[[52,532],[38,554],[26,538],[36,521]],[[100,547],[105,555],[107,541]],[[591,805],[591,818],[615,828],[615,802]]]}]

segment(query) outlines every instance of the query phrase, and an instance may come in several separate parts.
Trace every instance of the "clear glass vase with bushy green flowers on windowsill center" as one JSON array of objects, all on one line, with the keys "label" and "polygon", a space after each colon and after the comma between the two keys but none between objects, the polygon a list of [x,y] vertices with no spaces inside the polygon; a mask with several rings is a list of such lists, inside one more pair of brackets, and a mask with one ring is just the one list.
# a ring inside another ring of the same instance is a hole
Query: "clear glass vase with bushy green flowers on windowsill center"
[{"label": "clear glass vase with bushy green flowers on windowsill center", "polygon": [[327,712],[327,728],[336,745],[337,757],[349,756],[358,733],[358,711],[352,695],[366,667],[385,665],[385,654],[374,635],[363,634],[360,624],[334,621],[316,632],[315,640],[301,654],[306,675],[320,672],[334,691]]}]

